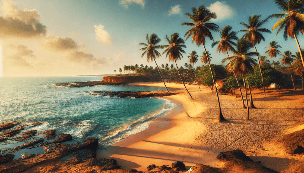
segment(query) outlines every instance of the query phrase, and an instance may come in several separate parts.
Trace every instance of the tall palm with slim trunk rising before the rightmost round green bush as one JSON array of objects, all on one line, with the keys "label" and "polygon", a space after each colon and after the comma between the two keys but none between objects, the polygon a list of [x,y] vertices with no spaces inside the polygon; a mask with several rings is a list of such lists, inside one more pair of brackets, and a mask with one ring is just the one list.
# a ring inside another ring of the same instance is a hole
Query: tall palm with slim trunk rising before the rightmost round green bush
[{"label": "tall palm with slim trunk rising before the rightmost round green bush", "polygon": [[[271,33],[266,28],[259,28],[261,27],[265,22],[268,21],[268,18],[262,20],[260,22],[260,17],[261,15],[252,15],[252,17],[249,17],[249,25],[245,24],[244,22],[241,22],[240,24],[244,25],[246,29],[240,30],[239,32],[246,32],[243,35],[243,38],[246,38],[249,42],[253,43],[255,52],[257,52],[257,48],[255,47],[256,44],[259,44],[262,40],[265,41],[264,36],[260,32],[266,32],[266,33]],[[264,83],[264,78],[263,78],[263,73],[261,69],[261,64],[259,60],[259,56],[257,55],[257,61],[259,63],[260,67],[260,72],[261,72],[261,77],[262,77],[262,83],[263,83],[263,91],[264,91],[264,96],[265,94],[265,83]]]}]

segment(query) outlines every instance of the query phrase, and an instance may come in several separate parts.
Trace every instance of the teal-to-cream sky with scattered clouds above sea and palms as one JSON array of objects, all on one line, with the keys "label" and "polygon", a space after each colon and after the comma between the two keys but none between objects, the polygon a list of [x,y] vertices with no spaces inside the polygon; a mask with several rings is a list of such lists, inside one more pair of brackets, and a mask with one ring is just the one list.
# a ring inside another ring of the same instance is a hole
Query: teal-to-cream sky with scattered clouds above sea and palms
[{"label": "teal-to-cream sky with scattered clouds above sea and palms", "polygon": [[[244,29],[240,22],[261,15],[265,19],[271,14],[281,13],[273,0],[233,1],[182,1],[182,0],[2,0],[0,3],[0,76],[73,76],[99,75],[118,72],[124,65],[152,65],[147,56],[141,57],[140,42],[146,43],[146,35],[155,33],[167,44],[165,35],[178,32],[185,40],[185,33],[191,29],[181,26],[191,22],[185,13],[192,13],[192,7],[204,5],[216,12],[213,22],[222,29],[231,25],[233,31]],[[261,28],[272,31],[278,19],[270,19]],[[266,41],[256,45],[261,55],[271,41],[282,46],[279,50],[299,51],[294,39],[276,37],[263,33]],[[219,32],[212,32],[214,40],[206,39],[206,49],[211,53],[213,64],[222,64],[227,55],[216,53],[211,48],[220,40]],[[244,33],[239,32],[240,38]],[[298,36],[301,46],[304,37]],[[188,55],[195,50],[202,55],[203,47],[185,41],[186,54],[177,62],[184,66]],[[162,54],[163,49],[158,49]],[[254,51],[254,49],[252,49]],[[255,58],[255,57],[253,57]],[[275,61],[279,60],[279,56]],[[268,60],[272,60],[268,57]],[[174,64],[165,55],[156,59],[157,64]],[[203,65],[198,61],[195,66]],[[175,64],[174,64],[175,66]]]}]

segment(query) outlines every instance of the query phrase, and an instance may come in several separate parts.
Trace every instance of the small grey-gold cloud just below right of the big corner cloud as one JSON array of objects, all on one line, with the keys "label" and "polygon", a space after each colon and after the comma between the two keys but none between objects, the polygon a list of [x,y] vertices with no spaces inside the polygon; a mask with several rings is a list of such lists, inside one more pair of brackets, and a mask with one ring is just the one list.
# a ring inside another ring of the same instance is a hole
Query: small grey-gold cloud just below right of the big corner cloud
[{"label": "small grey-gold cloud just below right of the big corner cloud", "polygon": [[55,52],[77,49],[79,47],[72,37],[61,38],[53,35],[44,37],[43,45]]}]

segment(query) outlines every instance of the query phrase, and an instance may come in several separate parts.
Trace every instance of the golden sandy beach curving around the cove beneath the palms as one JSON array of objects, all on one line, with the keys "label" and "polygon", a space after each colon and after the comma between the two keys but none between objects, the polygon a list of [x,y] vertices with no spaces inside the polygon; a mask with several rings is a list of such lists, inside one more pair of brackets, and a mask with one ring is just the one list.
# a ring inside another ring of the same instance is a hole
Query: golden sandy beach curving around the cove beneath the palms
[{"label": "golden sandy beach curving around the cove beneath the palms", "polygon": [[[162,82],[132,83],[131,85],[163,86]],[[197,85],[166,84],[180,94],[164,96],[176,104],[169,114],[153,120],[150,127],[129,136],[105,150],[97,157],[114,158],[123,169],[146,171],[149,165],[169,165],[182,161],[186,167],[198,163],[220,168],[216,160],[222,151],[241,149],[254,161],[278,172],[295,172],[302,167],[303,155],[289,155],[277,142],[287,133],[304,126],[292,126],[304,121],[304,92],[302,90],[253,91],[255,109],[241,108],[241,98],[219,95],[223,116],[228,120],[217,122],[216,94]],[[239,95],[238,95],[239,96]],[[147,105],[148,106],[148,105]]]}]

